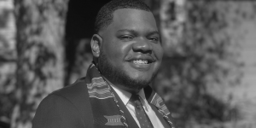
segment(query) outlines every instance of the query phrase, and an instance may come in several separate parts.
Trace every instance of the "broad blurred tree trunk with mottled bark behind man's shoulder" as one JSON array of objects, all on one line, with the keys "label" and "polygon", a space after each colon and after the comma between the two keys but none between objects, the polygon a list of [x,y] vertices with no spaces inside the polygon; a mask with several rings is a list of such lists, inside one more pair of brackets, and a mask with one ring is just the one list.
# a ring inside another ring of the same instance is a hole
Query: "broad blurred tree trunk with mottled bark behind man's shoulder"
[{"label": "broad blurred tree trunk with mottled bark behind man's shoulder", "polygon": [[12,127],[31,127],[38,103],[63,86],[67,0],[15,0],[17,70]]}]

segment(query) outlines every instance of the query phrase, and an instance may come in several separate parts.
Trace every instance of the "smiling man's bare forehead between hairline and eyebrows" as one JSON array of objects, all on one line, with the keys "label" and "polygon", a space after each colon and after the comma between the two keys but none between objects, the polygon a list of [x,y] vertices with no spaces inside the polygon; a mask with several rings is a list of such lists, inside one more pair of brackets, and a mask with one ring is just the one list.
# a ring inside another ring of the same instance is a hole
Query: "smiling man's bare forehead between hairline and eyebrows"
[{"label": "smiling man's bare forehead between hairline and eyebrows", "polygon": [[140,9],[117,9],[113,12],[113,29],[157,31],[154,15]]}]

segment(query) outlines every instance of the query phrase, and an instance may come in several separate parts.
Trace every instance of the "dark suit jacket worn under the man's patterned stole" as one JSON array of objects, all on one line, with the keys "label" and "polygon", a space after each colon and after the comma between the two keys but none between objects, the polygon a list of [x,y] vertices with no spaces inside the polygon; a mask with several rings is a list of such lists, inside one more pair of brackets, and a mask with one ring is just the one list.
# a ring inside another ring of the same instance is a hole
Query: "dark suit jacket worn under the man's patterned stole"
[{"label": "dark suit jacket worn under the man's patterned stole", "polygon": [[[117,96],[117,95],[116,95]],[[119,96],[117,96],[118,100]],[[120,108],[125,112],[127,124],[131,128],[137,128],[137,123],[131,113],[122,103]],[[157,109],[151,105],[158,118],[165,127],[166,121]],[[32,121],[32,128],[90,128],[93,127],[93,115],[90,106],[87,86],[80,80],[68,85],[61,90],[55,90],[46,96],[38,106],[36,115]],[[113,127],[113,126],[106,126]]]}]

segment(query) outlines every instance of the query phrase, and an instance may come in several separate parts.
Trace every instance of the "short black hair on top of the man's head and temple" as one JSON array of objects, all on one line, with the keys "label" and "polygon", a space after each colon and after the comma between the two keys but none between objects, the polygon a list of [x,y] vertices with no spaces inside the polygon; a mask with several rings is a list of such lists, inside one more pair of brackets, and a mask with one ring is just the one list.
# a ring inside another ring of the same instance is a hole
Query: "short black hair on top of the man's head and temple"
[{"label": "short black hair on top of the man's head and temple", "polygon": [[148,5],[141,0],[112,0],[105,4],[96,15],[95,33],[107,27],[113,21],[113,12],[117,9],[140,9],[150,12]]}]

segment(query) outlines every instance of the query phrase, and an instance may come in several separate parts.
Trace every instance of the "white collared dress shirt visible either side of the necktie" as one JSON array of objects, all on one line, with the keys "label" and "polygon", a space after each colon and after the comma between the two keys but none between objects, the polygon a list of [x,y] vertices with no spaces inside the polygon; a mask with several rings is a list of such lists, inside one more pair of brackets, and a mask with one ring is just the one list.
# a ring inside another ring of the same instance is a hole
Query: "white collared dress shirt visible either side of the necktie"
[{"label": "white collared dress shirt visible either side of the necktie", "polygon": [[[131,93],[127,92],[125,90],[120,90],[119,88],[117,88],[113,84],[111,84],[111,86],[113,87],[113,90],[115,90],[115,92],[119,95],[122,102],[124,102],[125,107],[129,110],[129,112],[131,113],[131,116],[136,121],[137,125],[139,127],[141,127],[140,123],[139,123],[139,121],[137,120],[137,117],[136,117],[135,108],[131,104],[131,102],[129,102],[129,100],[131,98]],[[138,95],[140,97],[140,101],[143,104],[143,108],[144,108],[145,112],[148,114],[148,118],[150,119],[154,128],[164,128],[164,126],[160,122],[160,119],[158,119],[157,115],[154,113],[154,110],[148,104],[148,101],[146,100],[144,90],[140,90]]]}]

